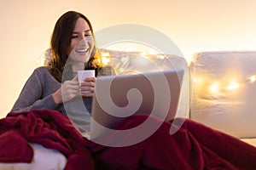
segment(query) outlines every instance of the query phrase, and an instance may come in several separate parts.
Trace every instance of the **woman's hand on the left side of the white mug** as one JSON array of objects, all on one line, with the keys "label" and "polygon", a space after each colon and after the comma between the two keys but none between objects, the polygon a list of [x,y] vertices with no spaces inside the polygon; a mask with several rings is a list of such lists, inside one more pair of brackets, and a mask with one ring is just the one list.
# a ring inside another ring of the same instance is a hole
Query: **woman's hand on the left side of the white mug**
[{"label": "woman's hand on the left side of the white mug", "polygon": [[65,81],[61,88],[59,88],[54,94],[53,99],[56,104],[61,104],[73,99],[79,94],[79,81],[78,77],[74,77],[72,80]]}]

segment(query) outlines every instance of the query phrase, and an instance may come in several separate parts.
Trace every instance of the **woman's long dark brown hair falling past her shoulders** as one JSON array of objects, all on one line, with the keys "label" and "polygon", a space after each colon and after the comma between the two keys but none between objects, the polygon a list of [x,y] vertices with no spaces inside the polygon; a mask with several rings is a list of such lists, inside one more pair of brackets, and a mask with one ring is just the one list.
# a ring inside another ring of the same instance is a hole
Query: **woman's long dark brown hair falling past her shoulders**
[{"label": "woman's long dark brown hair falling past her shoulders", "polygon": [[[66,65],[68,59],[66,52],[67,48],[69,48],[71,44],[73,29],[75,27],[76,21],[79,18],[83,18],[88,23],[90,26],[90,31],[92,32],[93,39],[96,42],[90,20],[88,20],[84,14],[80,14],[76,11],[68,11],[67,13],[61,15],[59,20],[57,20],[54,31],[51,35],[50,51],[52,58],[48,63],[48,65],[51,67],[50,73],[58,82],[63,82],[73,77],[71,66]],[[94,69],[97,73],[100,69],[100,65],[96,64],[96,58],[99,58],[99,53],[96,53],[95,45],[90,54],[89,61],[86,63],[86,65],[84,65],[84,70]],[[67,76],[65,73],[65,76],[67,77],[63,77],[64,68],[65,71],[67,70],[67,72],[70,72],[72,75],[69,74],[69,76]]]}]

